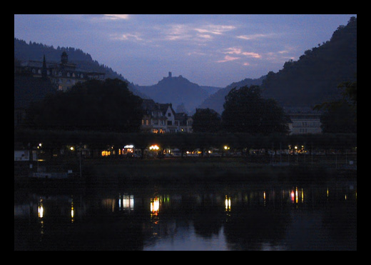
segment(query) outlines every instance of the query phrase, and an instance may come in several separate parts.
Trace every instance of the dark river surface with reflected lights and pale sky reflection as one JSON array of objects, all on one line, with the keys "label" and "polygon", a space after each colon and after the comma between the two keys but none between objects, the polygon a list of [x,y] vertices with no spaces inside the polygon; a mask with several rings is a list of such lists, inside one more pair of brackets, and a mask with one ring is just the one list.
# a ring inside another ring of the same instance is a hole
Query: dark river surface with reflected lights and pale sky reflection
[{"label": "dark river surface with reflected lights and pale sky reflection", "polygon": [[14,191],[14,250],[356,250],[357,181]]}]

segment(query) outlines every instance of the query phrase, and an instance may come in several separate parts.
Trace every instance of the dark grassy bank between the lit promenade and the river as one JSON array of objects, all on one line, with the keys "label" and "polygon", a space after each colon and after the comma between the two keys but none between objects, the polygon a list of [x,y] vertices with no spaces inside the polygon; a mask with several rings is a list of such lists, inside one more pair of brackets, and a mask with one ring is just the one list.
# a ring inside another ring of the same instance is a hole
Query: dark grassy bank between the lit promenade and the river
[{"label": "dark grassy bank between the lit promenade and the river", "polygon": [[[83,166],[86,174],[96,181],[164,181],[187,183],[193,181],[317,181],[340,171],[318,164],[248,163],[245,159],[143,159],[141,161],[112,160]],[[352,173],[352,172],[351,172]],[[352,174],[355,174],[354,172]]]}]

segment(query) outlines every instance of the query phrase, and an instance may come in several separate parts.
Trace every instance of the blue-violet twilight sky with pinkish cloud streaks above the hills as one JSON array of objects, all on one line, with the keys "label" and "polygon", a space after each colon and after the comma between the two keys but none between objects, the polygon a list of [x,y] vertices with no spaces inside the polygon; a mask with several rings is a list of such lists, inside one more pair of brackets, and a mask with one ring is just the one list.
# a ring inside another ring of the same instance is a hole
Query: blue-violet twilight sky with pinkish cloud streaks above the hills
[{"label": "blue-violet twilight sky with pinkish cloud streaks above the hills", "polygon": [[330,40],[356,14],[15,14],[14,37],[73,47],[128,81],[157,84],[168,71],[225,87],[277,72]]}]

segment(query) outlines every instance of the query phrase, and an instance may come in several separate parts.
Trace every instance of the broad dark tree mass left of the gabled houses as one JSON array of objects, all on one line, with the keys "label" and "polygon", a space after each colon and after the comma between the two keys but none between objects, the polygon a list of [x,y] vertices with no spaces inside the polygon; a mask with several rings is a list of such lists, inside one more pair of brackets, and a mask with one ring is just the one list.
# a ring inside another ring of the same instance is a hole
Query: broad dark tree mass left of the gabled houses
[{"label": "broad dark tree mass left of the gabled houses", "polygon": [[27,119],[36,129],[135,132],[143,117],[141,103],[124,81],[89,80],[34,104]]}]

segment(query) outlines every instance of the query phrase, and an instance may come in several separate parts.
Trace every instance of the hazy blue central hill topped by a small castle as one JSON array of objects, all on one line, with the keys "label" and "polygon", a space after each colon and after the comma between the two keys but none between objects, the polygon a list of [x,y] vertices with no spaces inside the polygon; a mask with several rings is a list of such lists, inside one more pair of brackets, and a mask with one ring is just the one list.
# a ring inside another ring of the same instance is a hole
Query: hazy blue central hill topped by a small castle
[{"label": "hazy blue central hill topped by a small castle", "polygon": [[206,99],[209,92],[183,76],[167,76],[152,86],[136,86],[141,93],[148,95],[158,103],[171,103],[173,109],[183,106],[193,113],[195,108]]}]

